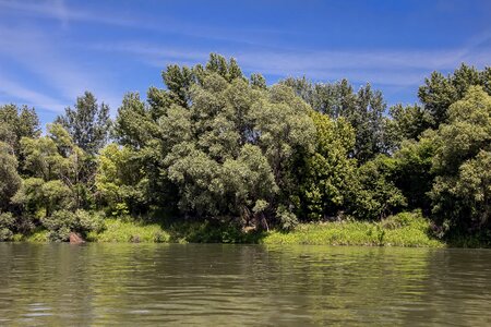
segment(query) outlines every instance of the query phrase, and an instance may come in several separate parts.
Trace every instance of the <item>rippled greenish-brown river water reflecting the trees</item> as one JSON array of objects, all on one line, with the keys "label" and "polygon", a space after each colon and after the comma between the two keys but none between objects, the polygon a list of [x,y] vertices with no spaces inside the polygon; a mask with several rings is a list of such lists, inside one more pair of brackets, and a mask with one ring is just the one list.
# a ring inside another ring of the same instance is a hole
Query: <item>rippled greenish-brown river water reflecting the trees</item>
[{"label": "rippled greenish-brown river water reflecting the trees", "polygon": [[491,251],[0,244],[0,325],[490,325]]}]

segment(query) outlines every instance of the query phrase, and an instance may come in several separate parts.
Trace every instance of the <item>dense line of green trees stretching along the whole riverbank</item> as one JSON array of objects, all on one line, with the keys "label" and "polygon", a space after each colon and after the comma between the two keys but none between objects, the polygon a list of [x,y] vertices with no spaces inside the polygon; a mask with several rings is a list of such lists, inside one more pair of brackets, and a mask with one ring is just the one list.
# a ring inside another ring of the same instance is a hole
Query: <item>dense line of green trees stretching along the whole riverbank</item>
[{"label": "dense line of green trees stretching along the whole riverbank", "polygon": [[433,72],[419,104],[387,108],[346,80],[268,86],[238,63],[169,65],[113,120],[86,92],[41,133],[0,107],[0,240],[133,217],[253,230],[419,210],[436,238],[491,239],[491,68]]}]

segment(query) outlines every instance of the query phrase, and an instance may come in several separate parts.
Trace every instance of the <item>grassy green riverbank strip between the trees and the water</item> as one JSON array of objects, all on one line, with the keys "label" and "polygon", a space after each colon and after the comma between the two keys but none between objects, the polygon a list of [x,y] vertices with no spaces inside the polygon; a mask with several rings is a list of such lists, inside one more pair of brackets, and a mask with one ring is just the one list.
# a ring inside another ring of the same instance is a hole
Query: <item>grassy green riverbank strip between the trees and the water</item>
[{"label": "grassy green riverbank strip between the trees and the water", "polygon": [[[131,219],[106,219],[99,232],[86,234],[88,242],[134,243],[252,243],[444,247],[445,242],[430,235],[430,221],[418,213],[403,213],[379,222],[332,221],[301,223],[291,231],[244,232],[217,222],[144,223]],[[39,230],[17,241],[48,242]],[[462,244],[468,246],[468,244]]]}]

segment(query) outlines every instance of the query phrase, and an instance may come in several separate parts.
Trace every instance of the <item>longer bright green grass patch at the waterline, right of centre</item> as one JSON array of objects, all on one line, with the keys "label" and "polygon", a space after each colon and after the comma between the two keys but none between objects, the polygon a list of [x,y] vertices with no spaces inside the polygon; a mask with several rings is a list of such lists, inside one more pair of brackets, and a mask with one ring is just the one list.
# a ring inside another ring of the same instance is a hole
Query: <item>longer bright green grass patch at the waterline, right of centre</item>
[{"label": "longer bright green grass patch at the waterline, right of centre", "polygon": [[443,247],[428,231],[430,222],[418,213],[403,213],[381,222],[339,221],[299,225],[290,232],[270,232],[264,244],[429,246]]}]

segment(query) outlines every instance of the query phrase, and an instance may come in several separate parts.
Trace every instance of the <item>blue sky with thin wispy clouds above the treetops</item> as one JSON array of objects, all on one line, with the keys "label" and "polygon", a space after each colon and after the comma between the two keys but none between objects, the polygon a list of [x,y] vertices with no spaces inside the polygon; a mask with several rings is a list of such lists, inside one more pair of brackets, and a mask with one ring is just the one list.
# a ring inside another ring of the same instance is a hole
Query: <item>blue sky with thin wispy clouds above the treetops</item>
[{"label": "blue sky with thin wispy clouds above the treetops", "polygon": [[347,77],[415,102],[433,70],[491,64],[491,1],[0,0],[0,104],[50,122],[85,89],[116,112],[169,63],[235,57],[268,84]]}]

